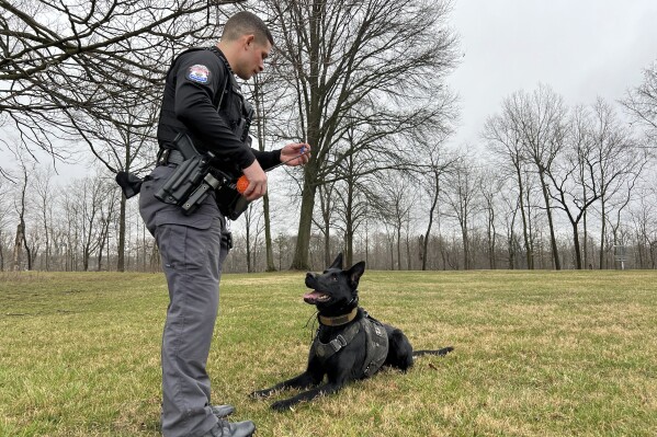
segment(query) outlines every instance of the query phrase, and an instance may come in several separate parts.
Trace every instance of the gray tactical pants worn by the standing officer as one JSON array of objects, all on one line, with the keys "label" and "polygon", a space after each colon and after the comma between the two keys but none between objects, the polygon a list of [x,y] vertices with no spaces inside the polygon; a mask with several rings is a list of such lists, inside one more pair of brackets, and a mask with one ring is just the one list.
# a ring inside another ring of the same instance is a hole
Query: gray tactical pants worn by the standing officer
[{"label": "gray tactical pants worn by the standing officer", "polygon": [[139,211],[157,241],[169,285],[161,356],[162,435],[193,437],[217,423],[205,366],[229,233],[213,196],[191,216],[154,196],[173,171],[173,166],[154,170],[141,185]]}]

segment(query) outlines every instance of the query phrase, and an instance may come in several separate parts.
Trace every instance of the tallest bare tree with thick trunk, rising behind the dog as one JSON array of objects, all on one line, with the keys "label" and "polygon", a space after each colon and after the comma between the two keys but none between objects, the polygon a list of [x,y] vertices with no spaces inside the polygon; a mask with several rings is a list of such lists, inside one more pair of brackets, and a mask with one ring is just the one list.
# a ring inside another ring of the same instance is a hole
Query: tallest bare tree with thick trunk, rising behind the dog
[{"label": "tallest bare tree with thick trunk, rising behind the dog", "polygon": [[[444,26],[445,1],[265,1],[279,25],[298,124],[287,137],[304,138],[314,159],[304,169],[298,239],[293,268],[308,267],[317,187],[330,175],[329,151],[351,126],[376,127],[378,136],[442,119],[443,80],[455,62],[455,38]],[[358,111],[354,108],[358,107]],[[375,142],[371,142],[375,145]],[[381,141],[376,145],[383,146]],[[399,146],[397,143],[396,146]],[[366,147],[363,143],[363,147]],[[381,159],[396,148],[382,148]]]}]

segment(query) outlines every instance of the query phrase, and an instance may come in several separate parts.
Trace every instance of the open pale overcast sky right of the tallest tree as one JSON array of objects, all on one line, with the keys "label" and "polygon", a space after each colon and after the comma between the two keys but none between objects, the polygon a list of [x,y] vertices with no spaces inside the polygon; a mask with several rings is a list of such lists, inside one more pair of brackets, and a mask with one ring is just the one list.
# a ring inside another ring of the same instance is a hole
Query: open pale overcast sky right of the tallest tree
[{"label": "open pale overcast sky right of the tallest tree", "polygon": [[454,0],[462,64],[453,142],[477,146],[486,118],[518,90],[548,84],[569,105],[622,99],[657,60],[657,0]]}]

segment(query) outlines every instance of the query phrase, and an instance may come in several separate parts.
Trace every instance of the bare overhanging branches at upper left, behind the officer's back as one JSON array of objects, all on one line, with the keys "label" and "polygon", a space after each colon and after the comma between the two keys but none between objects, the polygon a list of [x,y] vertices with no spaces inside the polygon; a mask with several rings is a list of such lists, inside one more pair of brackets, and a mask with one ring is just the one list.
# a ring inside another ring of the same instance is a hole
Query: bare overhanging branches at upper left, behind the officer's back
[{"label": "bare overhanging branches at upper left, behind the officer's back", "polygon": [[71,117],[122,124],[114,114],[151,94],[161,60],[214,32],[222,3],[1,0],[0,125],[27,150],[66,158],[60,139],[79,138]]}]

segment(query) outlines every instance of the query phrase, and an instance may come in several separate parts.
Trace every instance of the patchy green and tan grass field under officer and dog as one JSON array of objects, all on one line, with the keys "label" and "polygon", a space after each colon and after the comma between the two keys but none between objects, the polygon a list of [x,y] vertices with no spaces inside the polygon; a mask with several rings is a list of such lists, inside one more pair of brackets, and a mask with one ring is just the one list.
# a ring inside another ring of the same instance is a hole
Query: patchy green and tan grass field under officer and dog
[{"label": "patchy green and tan grass field under officer and dog", "polygon": [[[303,279],[223,278],[214,401],[259,436],[657,435],[657,272],[366,272],[364,308],[455,350],[274,413],[247,394],[304,368]],[[0,436],[159,435],[166,307],[161,275],[0,274]]]}]

